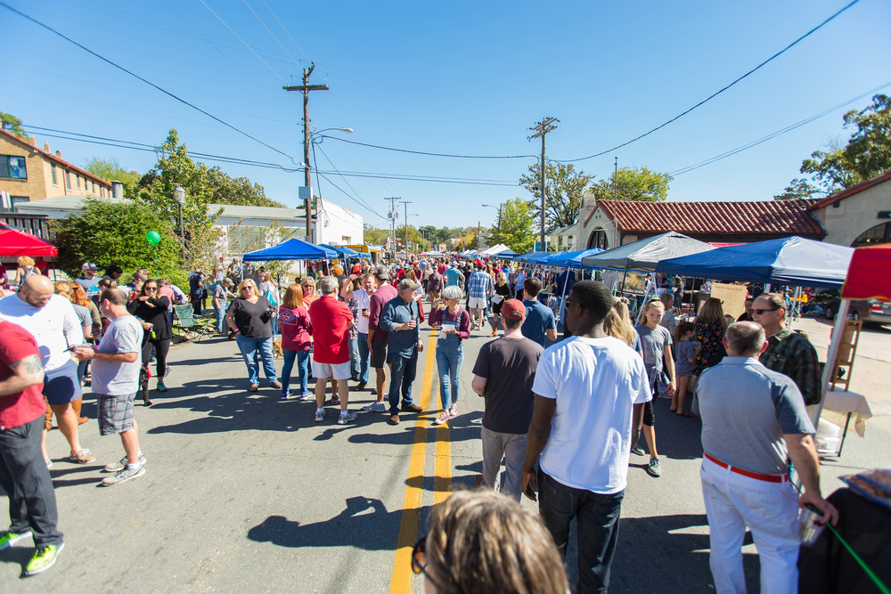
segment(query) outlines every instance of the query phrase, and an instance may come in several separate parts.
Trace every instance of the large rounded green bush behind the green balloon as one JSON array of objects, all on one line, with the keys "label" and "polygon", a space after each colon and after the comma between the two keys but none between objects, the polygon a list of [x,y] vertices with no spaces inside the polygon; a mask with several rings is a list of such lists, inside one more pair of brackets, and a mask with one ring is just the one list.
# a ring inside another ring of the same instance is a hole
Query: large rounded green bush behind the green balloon
[{"label": "large rounded green bush behind the green balloon", "polygon": [[[81,264],[94,262],[100,268],[118,264],[125,273],[148,268],[153,276],[168,276],[177,284],[186,281],[173,228],[149,206],[88,198],[80,215],[53,222],[53,227],[59,267],[72,277],[80,275]],[[150,231],[161,236],[157,248],[145,240]]]}]

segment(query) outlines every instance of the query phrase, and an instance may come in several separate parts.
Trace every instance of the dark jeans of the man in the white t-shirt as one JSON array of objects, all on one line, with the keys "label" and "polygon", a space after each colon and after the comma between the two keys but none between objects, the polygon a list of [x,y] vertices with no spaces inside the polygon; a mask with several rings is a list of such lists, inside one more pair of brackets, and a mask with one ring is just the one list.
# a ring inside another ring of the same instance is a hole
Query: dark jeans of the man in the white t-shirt
[{"label": "dark jeans of the man in the white t-shirt", "polygon": [[609,565],[616,552],[623,497],[624,491],[602,495],[574,489],[538,468],[538,512],[561,557],[566,557],[569,522],[576,518],[579,594],[609,588]]}]

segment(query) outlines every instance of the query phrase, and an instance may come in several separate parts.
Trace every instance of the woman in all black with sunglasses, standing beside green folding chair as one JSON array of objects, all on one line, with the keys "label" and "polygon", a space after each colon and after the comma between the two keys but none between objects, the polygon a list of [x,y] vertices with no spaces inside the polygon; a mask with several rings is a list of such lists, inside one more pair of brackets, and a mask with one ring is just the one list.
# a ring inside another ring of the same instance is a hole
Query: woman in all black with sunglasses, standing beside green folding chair
[{"label": "woman in all black with sunglasses, standing beside green folding chair", "polygon": [[[155,354],[155,377],[158,379],[156,389],[167,392],[164,376],[167,375],[167,355],[170,351],[170,340],[173,328],[170,326],[168,307],[170,299],[158,294],[158,281],[149,279],[143,282],[139,295],[127,304],[127,311],[136,316],[143,325],[143,365],[148,369],[151,353]],[[148,382],[143,388],[143,403],[151,406]]]}]

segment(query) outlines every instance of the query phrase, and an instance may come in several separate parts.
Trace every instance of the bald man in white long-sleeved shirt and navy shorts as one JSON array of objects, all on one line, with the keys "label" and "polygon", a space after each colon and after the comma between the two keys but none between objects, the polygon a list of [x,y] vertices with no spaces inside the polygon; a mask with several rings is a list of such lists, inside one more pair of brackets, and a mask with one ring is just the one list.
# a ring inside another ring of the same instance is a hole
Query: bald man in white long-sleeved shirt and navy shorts
[{"label": "bald man in white long-sleeved shirt and navy shorts", "polygon": [[[19,324],[37,340],[44,366],[43,394],[59,421],[59,430],[71,446],[66,461],[89,464],[96,457],[80,447],[78,416],[71,402],[81,397],[78,362],[69,347],[84,344],[84,331],[71,302],[53,294],[53,281],[45,276],[29,276],[16,295],[0,299],[0,319]],[[43,438],[47,466],[53,462],[46,455],[46,431]]]}]

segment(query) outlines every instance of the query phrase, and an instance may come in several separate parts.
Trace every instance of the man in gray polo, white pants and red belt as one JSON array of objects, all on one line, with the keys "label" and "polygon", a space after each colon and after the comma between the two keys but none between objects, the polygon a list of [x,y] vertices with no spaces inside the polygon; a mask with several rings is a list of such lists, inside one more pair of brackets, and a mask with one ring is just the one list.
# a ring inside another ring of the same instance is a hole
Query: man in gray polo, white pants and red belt
[{"label": "man in gray polo, white pants and red belt", "polygon": [[[813,425],[795,382],[758,361],[766,344],[756,323],[731,324],[723,338],[728,356],[703,371],[696,387],[709,565],[719,592],[746,591],[741,545],[747,526],[758,543],[761,583],[794,592],[799,506],[810,504],[825,520],[838,520],[820,494]],[[789,483],[787,456],[804,486],[800,497]]]}]

